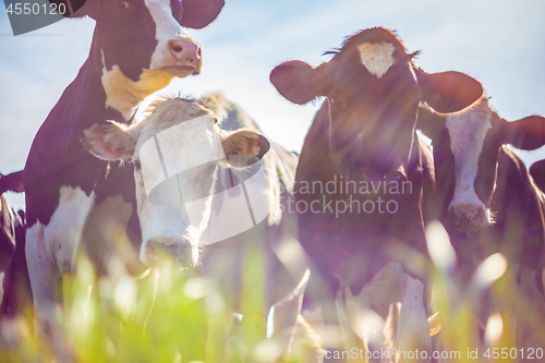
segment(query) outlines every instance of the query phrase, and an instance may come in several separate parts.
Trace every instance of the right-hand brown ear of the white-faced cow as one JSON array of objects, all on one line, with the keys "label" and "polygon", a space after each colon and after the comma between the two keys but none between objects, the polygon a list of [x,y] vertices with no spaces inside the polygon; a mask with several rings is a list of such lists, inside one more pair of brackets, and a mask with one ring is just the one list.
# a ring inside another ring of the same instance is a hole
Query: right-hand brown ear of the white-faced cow
[{"label": "right-hand brown ear of the white-faced cow", "polygon": [[269,150],[267,138],[250,130],[240,130],[221,141],[227,162],[237,168],[249,167],[259,161]]}]

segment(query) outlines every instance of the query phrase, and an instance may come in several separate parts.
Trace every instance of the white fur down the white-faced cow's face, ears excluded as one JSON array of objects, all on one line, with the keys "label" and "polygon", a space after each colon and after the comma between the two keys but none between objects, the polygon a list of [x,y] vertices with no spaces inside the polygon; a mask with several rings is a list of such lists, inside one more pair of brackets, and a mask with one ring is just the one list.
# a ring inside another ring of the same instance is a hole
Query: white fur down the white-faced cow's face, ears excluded
[{"label": "white fur down the white-faced cow's face, ears excluded", "polygon": [[[153,123],[161,123],[160,114],[152,114],[138,126],[157,130]],[[141,261],[148,263],[147,243],[157,238],[185,238],[192,243],[201,239],[210,215],[211,186],[215,169],[207,165],[217,160],[215,142],[217,126],[210,117],[195,122],[185,121],[155,134],[136,144],[142,169],[135,171],[138,216],[144,246]],[[142,153],[145,152],[145,155]],[[159,155],[162,158],[160,162]],[[166,182],[164,166],[170,179]],[[184,171],[180,173],[181,171]],[[148,199],[153,189],[161,184],[157,199]],[[205,197],[201,197],[206,195]]]}]

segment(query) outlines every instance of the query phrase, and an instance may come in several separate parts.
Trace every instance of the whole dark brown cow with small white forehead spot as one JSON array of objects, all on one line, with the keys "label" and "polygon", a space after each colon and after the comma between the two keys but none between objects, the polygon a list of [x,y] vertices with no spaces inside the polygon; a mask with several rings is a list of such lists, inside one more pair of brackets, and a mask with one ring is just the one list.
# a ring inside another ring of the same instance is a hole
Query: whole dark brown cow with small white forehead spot
[{"label": "whole dark brown cow with small white forehead spot", "polygon": [[[294,104],[326,97],[294,187],[301,244],[315,266],[311,276],[326,281],[314,299],[334,323],[331,302],[337,294],[342,300],[346,288],[383,317],[401,301],[401,349],[429,351],[425,276],[410,276],[400,264],[405,256],[393,256],[399,245],[426,251],[422,201],[423,190],[433,190],[433,162],[415,134],[416,113],[421,101],[462,109],[480,85],[457,72],[424,72],[413,63],[417,52],[383,27],[361,31],[328,53],[331,60],[319,66],[294,60],[270,73]],[[468,93],[451,93],[453,86]],[[384,279],[393,291],[374,294],[374,282]]]}]

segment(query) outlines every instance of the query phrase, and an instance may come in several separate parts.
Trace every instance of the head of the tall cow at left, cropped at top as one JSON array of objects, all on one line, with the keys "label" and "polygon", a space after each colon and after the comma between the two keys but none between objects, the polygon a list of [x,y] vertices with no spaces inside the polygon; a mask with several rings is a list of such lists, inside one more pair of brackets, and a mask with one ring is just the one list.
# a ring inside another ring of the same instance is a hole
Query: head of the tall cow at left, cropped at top
[{"label": "head of the tall cow at left, cropped at top", "polygon": [[144,97],[167,86],[172,77],[201,72],[201,46],[182,27],[205,27],[223,7],[223,0],[71,2],[70,16],[88,15],[96,21],[90,57],[102,69],[106,106],[125,118]]}]

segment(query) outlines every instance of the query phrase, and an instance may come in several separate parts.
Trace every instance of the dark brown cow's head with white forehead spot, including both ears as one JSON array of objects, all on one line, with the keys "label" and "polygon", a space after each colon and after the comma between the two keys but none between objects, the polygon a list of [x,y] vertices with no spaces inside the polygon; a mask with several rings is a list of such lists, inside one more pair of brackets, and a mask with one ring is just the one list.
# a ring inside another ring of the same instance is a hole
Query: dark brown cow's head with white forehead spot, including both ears
[{"label": "dark brown cow's head with white forehead spot, including both ears", "polygon": [[[470,102],[451,95],[448,85],[459,74],[427,74],[416,68],[398,37],[384,28],[370,28],[349,37],[329,62],[313,66],[289,61],[275,68],[270,81],[295,104],[328,98],[328,118],[336,154],[348,170],[365,177],[396,176],[410,159],[416,112],[421,100]],[[464,89],[480,87],[468,82]],[[451,105],[449,104],[449,105]]]}]

